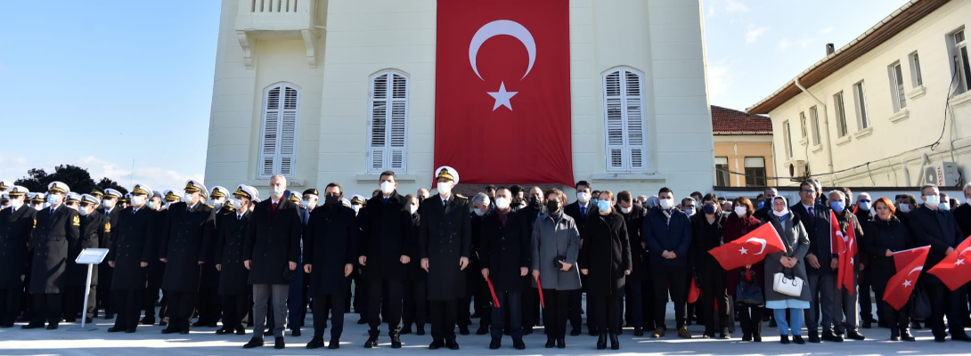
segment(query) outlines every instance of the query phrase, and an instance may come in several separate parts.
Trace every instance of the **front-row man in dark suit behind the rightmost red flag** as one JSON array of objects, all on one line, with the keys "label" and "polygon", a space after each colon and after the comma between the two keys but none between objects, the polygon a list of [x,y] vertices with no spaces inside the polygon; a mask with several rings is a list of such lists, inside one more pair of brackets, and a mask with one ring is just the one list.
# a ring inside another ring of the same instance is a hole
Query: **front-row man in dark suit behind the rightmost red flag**
[{"label": "front-row man in dark suit behind the rightmost red flag", "polygon": [[[944,257],[959,253],[954,248],[964,241],[964,234],[957,226],[951,211],[938,209],[940,191],[937,185],[926,184],[921,187],[923,205],[910,213],[911,232],[919,245],[930,245],[924,271],[930,270]],[[944,342],[948,333],[945,331],[944,316],[948,317],[947,330],[951,332],[952,340],[971,341],[964,332],[964,317],[967,309],[961,306],[967,303],[961,291],[966,287],[952,291],[936,275],[922,274],[921,280],[927,287],[930,298],[930,317],[925,321],[934,334],[934,340]]]}]

